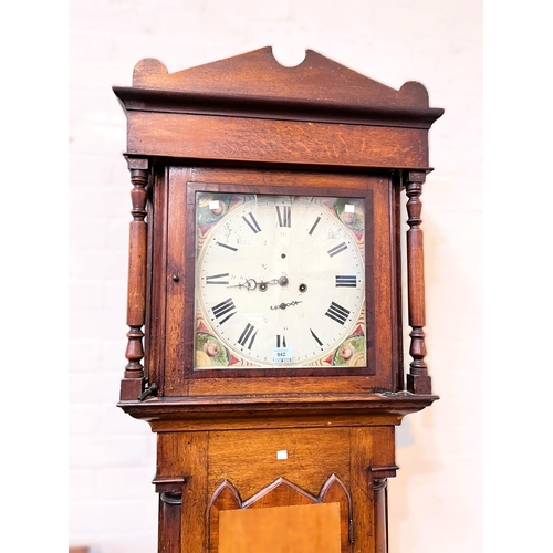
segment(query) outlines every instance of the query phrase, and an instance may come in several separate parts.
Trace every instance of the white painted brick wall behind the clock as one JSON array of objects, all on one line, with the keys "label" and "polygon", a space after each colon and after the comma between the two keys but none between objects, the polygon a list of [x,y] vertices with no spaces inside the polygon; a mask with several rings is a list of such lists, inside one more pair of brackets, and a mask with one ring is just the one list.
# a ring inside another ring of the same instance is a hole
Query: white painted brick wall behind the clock
[{"label": "white painted brick wall behind the clock", "polygon": [[70,2],[70,544],[157,551],[155,435],[115,407],[131,184],[111,87],[129,86],[143,58],[174,72],[273,45],[284,63],[309,48],[395,88],[420,81],[446,108],[422,196],[428,362],[442,399],[398,429],[389,551],[481,551],[482,395],[469,386],[482,368],[481,11],[479,0]]}]

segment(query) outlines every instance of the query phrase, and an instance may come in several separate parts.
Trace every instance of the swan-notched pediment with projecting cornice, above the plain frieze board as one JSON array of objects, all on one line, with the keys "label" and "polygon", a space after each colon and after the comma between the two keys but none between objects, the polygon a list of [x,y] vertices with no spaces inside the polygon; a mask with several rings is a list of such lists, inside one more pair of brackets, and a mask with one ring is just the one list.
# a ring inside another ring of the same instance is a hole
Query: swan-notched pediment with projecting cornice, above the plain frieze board
[{"label": "swan-notched pediment with projecting cornice, above the plain frieze board", "polygon": [[145,59],[135,66],[132,87],[113,90],[126,111],[425,129],[444,113],[429,107],[420,83],[396,91],[312,50],[301,64],[285,67],[270,46],[171,74],[158,60]]}]

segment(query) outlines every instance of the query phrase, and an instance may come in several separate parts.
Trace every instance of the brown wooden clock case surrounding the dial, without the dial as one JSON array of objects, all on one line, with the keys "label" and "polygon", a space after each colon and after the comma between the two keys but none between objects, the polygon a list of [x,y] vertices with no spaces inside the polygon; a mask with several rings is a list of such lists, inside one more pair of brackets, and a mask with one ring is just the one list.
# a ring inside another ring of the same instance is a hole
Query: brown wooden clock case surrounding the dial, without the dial
[{"label": "brown wooden clock case surrounding the dial, without the dial", "polygon": [[[396,91],[310,50],[294,67],[271,48],[171,74],[146,59],[131,87],[113,90],[127,117],[133,217],[118,406],[158,435],[159,551],[218,551],[221,509],[331,497],[345,505],[341,552],[386,551],[394,427],[437,399],[420,198],[428,132],[444,111],[419,83]],[[202,188],[366,199],[367,366],[194,371]],[[263,457],[273,447],[298,456],[275,467]]]}]

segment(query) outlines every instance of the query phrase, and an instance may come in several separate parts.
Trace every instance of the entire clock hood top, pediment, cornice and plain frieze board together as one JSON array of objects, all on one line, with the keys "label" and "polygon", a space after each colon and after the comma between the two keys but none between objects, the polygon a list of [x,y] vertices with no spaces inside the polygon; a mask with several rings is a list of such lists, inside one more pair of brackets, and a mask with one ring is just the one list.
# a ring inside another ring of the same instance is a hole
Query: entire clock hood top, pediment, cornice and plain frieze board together
[{"label": "entire clock hood top, pediment, cornice and plain frieze board together", "polygon": [[113,91],[127,155],[153,159],[430,171],[428,129],[444,113],[420,83],[396,91],[311,50],[285,67],[269,46],[171,74],[145,59]]}]

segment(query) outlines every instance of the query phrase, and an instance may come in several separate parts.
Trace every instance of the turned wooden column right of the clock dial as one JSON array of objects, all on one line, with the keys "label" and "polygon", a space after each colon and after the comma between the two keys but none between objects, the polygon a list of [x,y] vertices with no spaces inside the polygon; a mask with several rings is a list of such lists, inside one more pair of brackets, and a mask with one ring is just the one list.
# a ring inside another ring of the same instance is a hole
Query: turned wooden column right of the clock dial
[{"label": "turned wooden column right of the clock dial", "polygon": [[422,171],[407,174],[406,194],[409,198],[407,201],[407,225],[409,226],[407,230],[407,286],[409,326],[411,327],[409,355],[413,357],[407,375],[407,389],[413,394],[431,394],[432,392],[431,378],[425,362],[425,268],[422,230],[420,228],[422,222],[420,195],[425,179],[426,173]]}]

